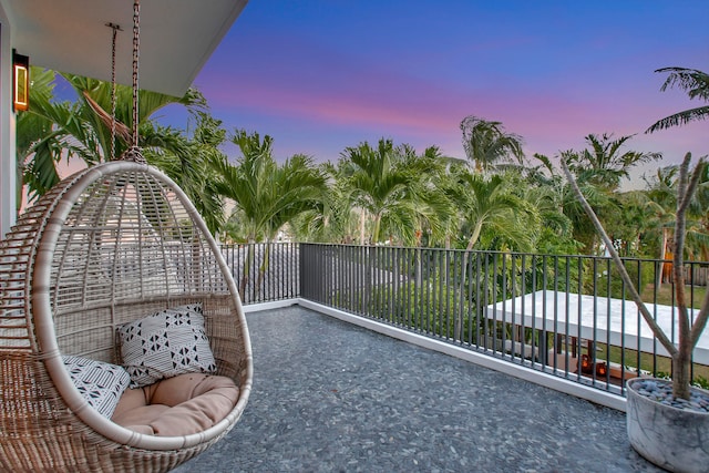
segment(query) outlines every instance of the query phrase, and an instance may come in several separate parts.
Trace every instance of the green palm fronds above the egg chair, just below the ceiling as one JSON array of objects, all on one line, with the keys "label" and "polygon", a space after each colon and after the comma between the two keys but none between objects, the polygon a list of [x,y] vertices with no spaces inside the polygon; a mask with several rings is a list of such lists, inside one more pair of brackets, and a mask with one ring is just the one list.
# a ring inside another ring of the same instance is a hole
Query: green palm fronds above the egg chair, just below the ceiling
[{"label": "green palm fronds above the egg chair, just below the ceiling", "polygon": [[[79,75],[60,74],[76,91],[75,102],[58,102],[53,96],[56,73],[32,68],[32,106],[18,117],[18,160],[22,161],[24,183],[30,196],[37,198],[59,182],[56,165],[62,160],[79,157],[86,165],[120,156],[131,143],[133,125],[132,90],[116,85],[116,140],[111,140],[111,90],[107,82]],[[185,152],[184,142],[176,140],[171,128],[153,125],[150,117],[165,105],[178,103],[191,113],[205,110],[206,101],[199,92],[188,90],[174,97],[156,92],[140,91],[138,123],[144,147],[160,147],[174,154]],[[115,146],[114,146],[115,145]],[[113,153],[112,153],[113,150]],[[113,156],[112,156],[113,155]],[[185,162],[186,160],[183,160]]]}]

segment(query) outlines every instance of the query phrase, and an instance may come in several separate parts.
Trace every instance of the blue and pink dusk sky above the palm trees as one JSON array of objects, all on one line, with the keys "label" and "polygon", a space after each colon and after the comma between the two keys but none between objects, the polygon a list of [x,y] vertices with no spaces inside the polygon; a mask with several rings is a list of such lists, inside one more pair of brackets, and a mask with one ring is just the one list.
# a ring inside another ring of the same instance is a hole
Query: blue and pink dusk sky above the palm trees
[{"label": "blue and pink dusk sky above the palm trees", "polygon": [[709,71],[708,18],[707,0],[251,0],[195,85],[227,130],[271,135],[279,161],[381,137],[463,157],[460,122],[476,115],[528,156],[637,134],[627,150],[666,165],[709,154],[707,121],[644,134],[701,104],[654,71]]}]

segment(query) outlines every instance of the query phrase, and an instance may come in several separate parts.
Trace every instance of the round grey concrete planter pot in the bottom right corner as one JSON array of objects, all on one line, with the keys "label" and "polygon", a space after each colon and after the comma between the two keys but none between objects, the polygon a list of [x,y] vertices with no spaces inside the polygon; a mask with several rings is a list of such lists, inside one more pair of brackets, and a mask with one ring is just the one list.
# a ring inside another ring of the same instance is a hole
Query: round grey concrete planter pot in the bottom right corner
[{"label": "round grey concrete planter pot in the bottom right corner", "polygon": [[[627,383],[627,429],[633,448],[645,459],[671,472],[707,472],[709,413],[686,411],[654,401],[637,392],[634,384],[638,381],[640,379],[635,378]],[[709,395],[709,392],[700,391]]]}]

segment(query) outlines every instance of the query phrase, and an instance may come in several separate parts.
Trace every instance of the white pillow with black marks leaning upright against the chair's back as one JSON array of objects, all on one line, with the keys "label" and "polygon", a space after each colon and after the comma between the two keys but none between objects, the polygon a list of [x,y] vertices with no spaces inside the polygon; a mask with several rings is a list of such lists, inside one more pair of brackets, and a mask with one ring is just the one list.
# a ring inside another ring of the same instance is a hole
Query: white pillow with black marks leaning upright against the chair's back
[{"label": "white pillow with black marks leaning upright against the chair's back", "polygon": [[214,373],[201,304],[166,309],[119,327],[123,366],[131,388],[183,373]]}]

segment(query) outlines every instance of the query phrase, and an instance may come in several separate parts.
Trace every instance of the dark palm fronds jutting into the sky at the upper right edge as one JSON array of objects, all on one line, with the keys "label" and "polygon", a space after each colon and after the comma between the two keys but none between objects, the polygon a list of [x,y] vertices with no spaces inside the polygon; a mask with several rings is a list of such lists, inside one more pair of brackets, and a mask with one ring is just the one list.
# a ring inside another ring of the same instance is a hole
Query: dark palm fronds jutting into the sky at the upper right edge
[{"label": "dark palm fronds jutting into the sky at the upper right edge", "polygon": [[[664,68],[658,69],[655,72],[669,72],[669,75],[660,88],[660,91],[665,92],[668,88],[677,85],[679,89],[687,92],[689,99],[699,99],[705,102],[709,102],[709,74],[706,72],[687,68]],[[685,125],[698,120],[707,120],[707,117],[709,117],[709,104],[685,110],[666,116],[662,120],[658,120],[647,128],[645,133],[654,133],[658,130]]]}]

